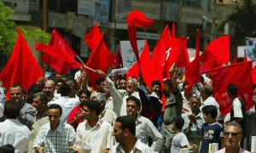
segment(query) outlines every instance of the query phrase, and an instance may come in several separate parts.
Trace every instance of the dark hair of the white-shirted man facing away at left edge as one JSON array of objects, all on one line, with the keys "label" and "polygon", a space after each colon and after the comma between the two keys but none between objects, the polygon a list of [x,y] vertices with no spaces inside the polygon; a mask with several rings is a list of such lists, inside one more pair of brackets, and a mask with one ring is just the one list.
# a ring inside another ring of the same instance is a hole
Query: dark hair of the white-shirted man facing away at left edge
[{"label": "dark hair of the white-shirted man facing away at left edge", "polygon": [[4,103],[3,114],[6,118],[16,119],[20,116],[20,103],[21,102],[16,102],[15,100],[9,100]]}]

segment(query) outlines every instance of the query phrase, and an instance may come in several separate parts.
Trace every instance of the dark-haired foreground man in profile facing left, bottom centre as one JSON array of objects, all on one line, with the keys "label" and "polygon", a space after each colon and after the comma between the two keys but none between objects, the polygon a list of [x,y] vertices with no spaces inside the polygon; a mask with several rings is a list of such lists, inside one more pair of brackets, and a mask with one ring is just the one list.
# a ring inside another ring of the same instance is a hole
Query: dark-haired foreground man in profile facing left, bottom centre
[{"label": "dark-haired foreground man in profile facing left, bottom centre", "polygon": [[136,125],[132,116],[119,116],[113,127],[113,136],[119,144],[114,145],[109,152],[125,153],[153,153],[154,151],[147,144],[137,139]]}]

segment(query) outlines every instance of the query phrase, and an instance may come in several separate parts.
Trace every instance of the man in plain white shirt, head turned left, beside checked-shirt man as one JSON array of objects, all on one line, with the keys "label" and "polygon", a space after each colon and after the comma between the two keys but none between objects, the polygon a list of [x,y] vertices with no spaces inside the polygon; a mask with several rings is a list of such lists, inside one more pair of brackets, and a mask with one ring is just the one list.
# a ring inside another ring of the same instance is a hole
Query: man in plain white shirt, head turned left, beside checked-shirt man
[{"label": "man in plain white shirt, head turned left, beside checked-shirt man", "polygon": [[95,100],[84,102],[84,119],[77,127],[74,150],[80,152],[108,152],[112,146],[112,126],[99,119],[101,104]]}]

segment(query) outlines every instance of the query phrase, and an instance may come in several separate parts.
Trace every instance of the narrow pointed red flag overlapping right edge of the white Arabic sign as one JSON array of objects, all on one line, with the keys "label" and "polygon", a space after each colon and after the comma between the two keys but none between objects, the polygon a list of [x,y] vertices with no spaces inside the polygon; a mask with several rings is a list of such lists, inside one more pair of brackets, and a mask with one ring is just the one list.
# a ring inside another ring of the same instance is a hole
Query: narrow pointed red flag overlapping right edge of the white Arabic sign
[{"label": "narrow pointed red flag overlapping right edge of the white Arabic sign", "polygon": [[[144,81],[148,86],[150,86],[151,82],[154,80],[154,74],[152,73],[152,66],[151,66],[151,59],[150,59],[150,53],[148,48],[148,42],[146,41],[145,46],[143,48],[143,53],[140,56],[141,60],[141,68],[143,73]],[[126,74],[126,77],[139,77],[139,68],[138,63],[136,62],[132,67],[129,69],[128,73]]]}]

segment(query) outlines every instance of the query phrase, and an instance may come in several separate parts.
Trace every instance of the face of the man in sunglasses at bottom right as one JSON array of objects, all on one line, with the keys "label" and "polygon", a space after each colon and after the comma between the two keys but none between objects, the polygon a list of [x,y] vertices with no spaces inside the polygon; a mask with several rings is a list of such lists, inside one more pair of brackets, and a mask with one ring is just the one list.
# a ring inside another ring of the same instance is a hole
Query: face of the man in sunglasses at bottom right
[{"label": "face of the man in sunglasses at bottom right", "polygon": [[239,127],[227,126],[224,129],[224,144],[227,148],[236,148],[241,142],[242,134],[239,131]]}]

